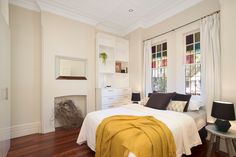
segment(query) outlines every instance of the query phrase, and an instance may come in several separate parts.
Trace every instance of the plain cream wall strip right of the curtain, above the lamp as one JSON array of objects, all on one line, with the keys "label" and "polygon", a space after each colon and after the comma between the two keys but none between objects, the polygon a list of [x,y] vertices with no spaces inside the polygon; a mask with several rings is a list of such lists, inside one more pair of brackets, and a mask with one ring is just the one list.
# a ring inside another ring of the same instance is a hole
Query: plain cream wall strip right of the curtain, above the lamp
[{"label": "plain cream wall strip right of the curtain, above the lamp", "polygon": [[[222,99],[231,101],[236,109],[236,1],[221,0],[221,71]],[[236,123],[233,123],[236,130]]]}]

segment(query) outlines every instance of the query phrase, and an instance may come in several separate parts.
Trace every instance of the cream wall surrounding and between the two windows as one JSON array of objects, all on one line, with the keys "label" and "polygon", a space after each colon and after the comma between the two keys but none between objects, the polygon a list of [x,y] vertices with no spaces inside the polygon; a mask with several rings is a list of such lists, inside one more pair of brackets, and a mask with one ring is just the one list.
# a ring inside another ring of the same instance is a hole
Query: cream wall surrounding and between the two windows
[{"label": "cream wall surrounding and between the two windows", "polygon": [[[146,28],[146,29],[141,29],[141,30],[136,30],[131,32],[127,38],[130,40],[130,84],[131,88],[135,90],[135,86],[137,84],[139,85],[140,82],[143,82],[144,79],[144,74],[143,74],[143,40],[151,38],[155,35],[162,34],[164,32],[170,31],[172,29],[175,29],[179,26],[182,26],[186,23],[189,23],[191,21],[194,21],[196,19],[199,19],[205,15],[211,14],[217,10],[220,9],[220,5],[218,0],[204,0],[200,2],[199,4],[173,16],[165,21],[158,23],[152,27]],[[190,27],[196,28],[193,24]],[[183,58],[181,58],[181,48],[174,43],[179,44],[180,41],[179,39],[183,35],[184,31],[181,29],[176,30],[175,32],[170,33],[169,35],[166,36],[161,36],[159,39],[156,40],[162,40],[164,38],[168,39],[170,42],[168,44],[168,85],[167,85],[167,90],[168,91],[179,91],[179,92],[184,92],[184,89],[181,88],[181,86],[184,85],[183,79],[181,78],[181,73],[183,73],[183,69],[181,69],[181,64],[183,65]],[[183,38],[183,36],[182,36]],[[155,40],[154,40],[155,42]],[[172,44],[171,44],[172,43]],[[183,43],[182,43],[183,44]],[[134,58],[136,56],[142,57],[141,60],[140,58],[137,61],[134,61]],[[178,67],[177,67],[178,65]],[[137,68],[138,67],[138,68]],[[177,68],[177,69],[176,69]],[[140,85],[139,85],[140,86]]]}]

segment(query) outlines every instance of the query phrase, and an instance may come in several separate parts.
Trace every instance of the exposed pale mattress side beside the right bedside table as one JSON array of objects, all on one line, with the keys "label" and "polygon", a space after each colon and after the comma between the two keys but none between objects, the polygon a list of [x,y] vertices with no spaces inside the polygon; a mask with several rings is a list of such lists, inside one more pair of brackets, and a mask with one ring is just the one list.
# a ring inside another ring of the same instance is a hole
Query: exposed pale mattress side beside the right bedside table
[{"label": "exposed pale mattress side beside the right bedside table", "polygon": [[201,130],[204,126],[206,126],[206,111],[204,109],[200,109],[198,111],[188,111],[184,112],[185,114],[192,117],[196,123],[198,131]]}]

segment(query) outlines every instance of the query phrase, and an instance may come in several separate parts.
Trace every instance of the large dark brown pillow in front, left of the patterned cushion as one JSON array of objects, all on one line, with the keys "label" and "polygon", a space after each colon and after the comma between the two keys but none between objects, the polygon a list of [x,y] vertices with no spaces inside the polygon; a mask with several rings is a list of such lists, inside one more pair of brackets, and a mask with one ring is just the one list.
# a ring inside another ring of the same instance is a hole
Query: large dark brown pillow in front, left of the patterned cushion
[{"label": "large dark brown pillow in front, left of the patterned cushion", "polygon": [[159,109],[166,110],[170,100],[175,96],[174,93],[153,93],[149,98],[146,106]]}]

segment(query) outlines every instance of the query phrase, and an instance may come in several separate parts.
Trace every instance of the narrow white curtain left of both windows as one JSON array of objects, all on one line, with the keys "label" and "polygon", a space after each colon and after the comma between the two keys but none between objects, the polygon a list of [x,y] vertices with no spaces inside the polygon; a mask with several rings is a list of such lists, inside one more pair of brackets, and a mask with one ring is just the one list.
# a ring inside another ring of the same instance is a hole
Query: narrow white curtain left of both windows
[{"label": "narrow white curtain left of both windows", "polygon": [[151,86],[151,81],[152,81],[152,42],[151,40],[145,41],[144,42],[144,95],[147,97],[148,93],[152,92],[152,86]]}]

